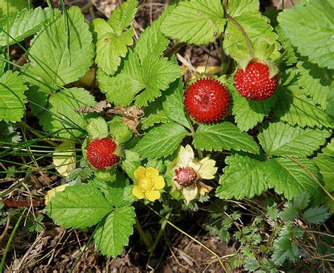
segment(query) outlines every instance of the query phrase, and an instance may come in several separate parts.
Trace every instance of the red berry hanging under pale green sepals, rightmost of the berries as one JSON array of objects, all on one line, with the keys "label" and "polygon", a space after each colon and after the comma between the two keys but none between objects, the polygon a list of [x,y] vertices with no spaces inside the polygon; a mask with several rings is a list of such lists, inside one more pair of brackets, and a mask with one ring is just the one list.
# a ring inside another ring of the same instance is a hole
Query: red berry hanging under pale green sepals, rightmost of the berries
[{"label": "red berry hanging under pale green sepals, rightmost of the berries", "polygon": [[277,87],[277,78],[270,78],[268,65],[261,62],[249,63],[246,71],[239,68],[234,82],[239,94],[253,101],[268,99]]}]

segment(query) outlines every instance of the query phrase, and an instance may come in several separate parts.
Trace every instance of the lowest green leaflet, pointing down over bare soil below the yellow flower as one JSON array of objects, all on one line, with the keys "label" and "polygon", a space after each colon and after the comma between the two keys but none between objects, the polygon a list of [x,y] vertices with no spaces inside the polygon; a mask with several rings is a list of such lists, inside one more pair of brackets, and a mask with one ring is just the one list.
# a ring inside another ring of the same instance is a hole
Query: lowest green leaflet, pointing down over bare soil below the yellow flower
[{"label": "lowest green leaflet, pointing down over bare soil below the yellow flower", "polygon": [[129,243],[135,224],[135,208],[124,206],[117,208],[99,224],[94,233],[94,241],[102,254],[116,258]]}]

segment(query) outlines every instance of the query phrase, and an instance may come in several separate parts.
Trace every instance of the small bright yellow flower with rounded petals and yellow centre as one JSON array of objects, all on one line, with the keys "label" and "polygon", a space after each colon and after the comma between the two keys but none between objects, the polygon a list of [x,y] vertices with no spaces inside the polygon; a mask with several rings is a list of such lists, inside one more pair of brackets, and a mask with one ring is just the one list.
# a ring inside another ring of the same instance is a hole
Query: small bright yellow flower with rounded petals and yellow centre
[{"label": "small bright yellow flower with rounded petals and yellow centre", "polygon": [[135,170],[135,187],[132,190],[132,194],[139,199],[146,197],[149,201],[155,201],[160,198],[159,189],[163,189],[165,181],[163,177],[159,175],[159,170],[154,167],[142,166]]}]

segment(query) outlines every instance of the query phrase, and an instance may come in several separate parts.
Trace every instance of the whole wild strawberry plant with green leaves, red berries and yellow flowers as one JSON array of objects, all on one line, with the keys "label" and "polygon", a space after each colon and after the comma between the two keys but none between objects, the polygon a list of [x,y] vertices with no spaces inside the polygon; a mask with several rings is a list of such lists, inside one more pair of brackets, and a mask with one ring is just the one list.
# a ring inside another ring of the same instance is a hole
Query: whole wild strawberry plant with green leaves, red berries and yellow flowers
[{"label": "whole wild strawberry plant with green leaves, red berries and yellow flowers", "polygon": [[[105,255],[128,244],[137,201],[151,208],[175,199],[196,210],[209,198],[219,206],[276,193],[287,207],[262,260],[251,254],[264,240],[254,237],[260,229],[235,237],[249,270],[295,262],[292,239],[302,231],[293,221],[320,224],[334,208],[333,4],[300,1],[260,13],[259,1],[180,1],[139,35],[137,6],[125,1],[109,20],[90,23],[76,6],[2,18],[1,139],[20,142],[11,128],[28,110],[61,145],[82,144],[80,167],[67,172],[69,185],[51,196],[47,213],[63,227],[94,226]],[[8,61],[6,46],[32,34],[27,63]],[[215,42],[220,74],[184,82],[175,52]],[[100,94],[75,84],[94,71]],[[274,212],[268,207],[268,217]],[[232,222],[211,231],[230,239]]]}]

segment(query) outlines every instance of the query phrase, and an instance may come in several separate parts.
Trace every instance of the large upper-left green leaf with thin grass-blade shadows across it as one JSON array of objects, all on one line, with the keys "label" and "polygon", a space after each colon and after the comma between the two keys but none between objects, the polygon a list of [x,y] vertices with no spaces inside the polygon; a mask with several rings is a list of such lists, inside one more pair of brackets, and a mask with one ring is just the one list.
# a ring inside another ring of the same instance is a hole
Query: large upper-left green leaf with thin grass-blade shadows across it
[{"label": "large upper-left green leaf with thin grass-blade shadows across it", "polygon": [[30,44],[25,80],[42,89],[58,90],[85,75],[92,65],[92,34],[78,6],[39,31]]}]

